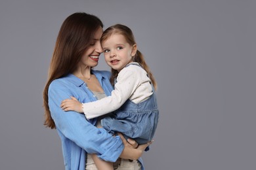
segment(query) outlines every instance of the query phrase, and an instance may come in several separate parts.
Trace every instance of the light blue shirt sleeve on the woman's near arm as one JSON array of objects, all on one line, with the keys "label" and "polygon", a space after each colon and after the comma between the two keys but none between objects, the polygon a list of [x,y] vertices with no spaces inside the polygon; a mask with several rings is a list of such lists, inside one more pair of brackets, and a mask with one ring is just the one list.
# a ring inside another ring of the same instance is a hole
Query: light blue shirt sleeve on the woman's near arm
[{"label": "light blue shirt sleeve on the woman's near arm", "polygon": [[112,137],[104,128],[97,128],[89,123],[84,114],[74,111],[65,112],[60,103],[74,96],[68,88],[53,83],[49,87],[49,108],[56,128],[75,144],[88,153],[98,154],[106,161],[116,161],[123,151],[119,137]]}]

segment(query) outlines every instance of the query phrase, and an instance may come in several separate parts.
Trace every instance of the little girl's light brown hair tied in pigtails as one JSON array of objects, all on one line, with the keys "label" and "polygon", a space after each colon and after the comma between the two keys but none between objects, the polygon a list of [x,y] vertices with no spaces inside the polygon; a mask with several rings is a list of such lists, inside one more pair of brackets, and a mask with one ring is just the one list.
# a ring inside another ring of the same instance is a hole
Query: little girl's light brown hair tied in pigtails
[{"label": "little girl's light brown hair tied in pigtails", "polygon": [[[123,35],[123,37],[125,37],[125,40],[131,45],[133,46],[134,44],[136,44],[135,42],[135,37],[133,35],[133,32],[131,31],[131,29],[125,25],[121,25],[121,24],[116,24],[116,25],[112,25],[111,27],[108,27],[102,34],[102,37],[100,39],[100,41],[106,41],[112,34],[117,33],[120,35]],[[152,74],[152,72],[150,71],[150,68],[148,67],[148,65],[146,64],[146,61],[144,59],[144,56],[142,55],[142,53],[137,50],[135,56],[133,56],[133,62],[137,62],[141,65],[141,67],[146,71],[146,73],[148,73],[148,77],[150,78],[154,88],[157,88],[157,83],[156,80]],[[114,80],[118,75],[118,71],[115,69],[111,69],[112,72],[112,76],[110,78],[110,82],[112,83],[112,85],[114,86]]]}]

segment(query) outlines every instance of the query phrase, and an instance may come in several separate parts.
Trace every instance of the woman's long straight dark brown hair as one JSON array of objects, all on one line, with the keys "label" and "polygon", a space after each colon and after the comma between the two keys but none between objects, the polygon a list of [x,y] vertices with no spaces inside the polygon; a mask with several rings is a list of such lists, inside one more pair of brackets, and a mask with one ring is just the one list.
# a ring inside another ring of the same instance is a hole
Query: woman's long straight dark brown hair
[{"label": "woman's long straight dark brown hair", "polygon": [[74,71],[99,27],[103,27],[100,19],[84,12],[76,12],[68,16],[60,27],[49,67],[48,80],[43,91],[46,127],[56,128],[48,104],[48,90],[51,82]]}]

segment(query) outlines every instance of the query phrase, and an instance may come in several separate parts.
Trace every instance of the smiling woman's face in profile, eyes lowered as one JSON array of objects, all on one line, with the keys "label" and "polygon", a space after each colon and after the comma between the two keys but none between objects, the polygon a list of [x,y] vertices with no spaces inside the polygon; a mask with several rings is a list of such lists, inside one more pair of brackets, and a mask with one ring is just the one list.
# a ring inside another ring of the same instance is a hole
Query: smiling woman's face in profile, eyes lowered
[{"label": "smiling woman's face in profile, eyes lowered", "polygon": [[95,67],[98,65],[98,59],[100,53],[102,53],[102,47],[100,44],[100,37],[102,35],[102,27],[99,27],[98,30],[95,32],[95,36],[91,41],[89,48],[85,50],[85,54],[83,54],[79,65]]}]

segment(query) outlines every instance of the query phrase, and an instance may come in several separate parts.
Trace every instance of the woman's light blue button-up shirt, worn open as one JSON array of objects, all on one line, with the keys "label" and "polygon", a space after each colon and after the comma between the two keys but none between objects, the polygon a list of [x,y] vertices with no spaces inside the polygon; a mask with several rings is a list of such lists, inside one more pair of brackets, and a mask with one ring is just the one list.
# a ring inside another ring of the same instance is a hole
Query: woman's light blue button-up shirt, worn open
[{"label": "woman's light blue button-up shirt, worn open", "polygon": [[[109,81],[110,72],[92,73],[98,78],[106,95],[110,95],[113,90]],[[84,114],[62,110],[61,101],[70,96],[81,103],[96,100],[85,82],[72,74],[53,80],[49,86],[49,108],[62,143],[65,169],[84,170],[86,153],[96,153],[102,160],[116,161],[124,148],[121,139],[118,136],[112,137],[103,128],[95,127],[96,119],[88,122]],[[142,163],[141,158],[139,161]]]}]

